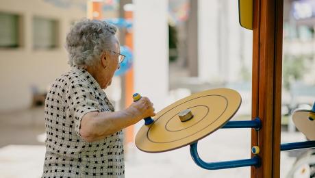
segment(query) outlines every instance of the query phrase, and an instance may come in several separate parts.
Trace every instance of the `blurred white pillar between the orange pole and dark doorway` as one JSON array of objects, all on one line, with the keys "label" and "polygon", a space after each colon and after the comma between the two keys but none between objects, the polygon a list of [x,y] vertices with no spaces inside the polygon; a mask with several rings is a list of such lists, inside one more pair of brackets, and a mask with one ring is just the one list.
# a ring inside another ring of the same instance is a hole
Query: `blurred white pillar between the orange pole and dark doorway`
[{"label": "blurred white pillar between the orange pole and dark doorway", "polygon": [[149,97],[157,111],[168,94],[167,13],[167,0],[134,0],[135,91]]}]

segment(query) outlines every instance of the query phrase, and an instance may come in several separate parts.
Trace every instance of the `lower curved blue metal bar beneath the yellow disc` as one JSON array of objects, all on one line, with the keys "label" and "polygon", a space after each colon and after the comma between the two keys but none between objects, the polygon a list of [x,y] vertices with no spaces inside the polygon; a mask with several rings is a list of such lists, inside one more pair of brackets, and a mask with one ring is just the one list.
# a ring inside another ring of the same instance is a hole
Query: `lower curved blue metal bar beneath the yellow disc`
[{"label": "lower curved blue metal bar beneath the yellow disc", "polygon": [[251,159],[246,160],[234,160],[234,161],[227,161],[227,162],[204,162],[198,155],[197,151],[197,144],[198,142],[194,142],[190,144],[190,155],[192,156],[192,160],[200,166],[201,168],[207,170],[216,170],[216,169],[224,169],[224,168],[238,168],[238,167],[245,167],[245,166],[255,166],[260,167],[260,157],[254,156]]}]

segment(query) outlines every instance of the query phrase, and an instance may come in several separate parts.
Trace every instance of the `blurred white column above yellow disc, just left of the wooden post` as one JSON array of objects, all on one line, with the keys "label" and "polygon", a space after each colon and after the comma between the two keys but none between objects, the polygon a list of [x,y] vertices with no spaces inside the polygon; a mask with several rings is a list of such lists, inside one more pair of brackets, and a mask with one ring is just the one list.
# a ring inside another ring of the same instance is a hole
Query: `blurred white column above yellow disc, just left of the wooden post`
[{"label": "blurred white column above yellow disc, just left of the wooden post", "polygon": [[240,27],[238,1],[199,0],[198,21],[199,79],[212,84],[242,80],[240,58],[251,72],[253,38],[252,31]]}]

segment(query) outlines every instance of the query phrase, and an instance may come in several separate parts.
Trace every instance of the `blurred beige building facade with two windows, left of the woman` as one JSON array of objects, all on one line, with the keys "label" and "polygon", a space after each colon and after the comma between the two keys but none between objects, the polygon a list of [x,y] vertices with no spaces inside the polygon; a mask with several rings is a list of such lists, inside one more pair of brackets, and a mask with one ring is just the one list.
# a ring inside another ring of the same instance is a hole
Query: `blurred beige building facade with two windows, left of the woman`
[{"label": "blurred beige building facade with two windows, left of the woman", "polygon": [[68,69],[64,39],[86,16],[86,1],[0,1],[0,110],[31,105]]}]

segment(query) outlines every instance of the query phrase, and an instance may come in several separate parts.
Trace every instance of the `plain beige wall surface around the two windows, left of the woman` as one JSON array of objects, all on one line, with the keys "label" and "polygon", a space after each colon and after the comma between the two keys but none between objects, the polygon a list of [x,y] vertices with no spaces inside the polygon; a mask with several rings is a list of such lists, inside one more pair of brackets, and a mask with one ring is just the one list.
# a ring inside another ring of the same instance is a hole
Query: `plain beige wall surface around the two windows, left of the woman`
[{"label": "plain beige wall surface around the two windows, left of the woman", "polygon": [[[21,15],[21,38],[24,41],[23,47],[18,49],[0,49],[0,111],[25,109],[31,105],[31,86],[45,90],[56,77],[68,70],[64,50],[66,32],[71,23],[84,18],[86,12],[77,7],[58,8],[42,0],[0,0],[0,4],[0,12]],[[57,49],[33,49],[34,16],[58,21],[60,44]]]}]

